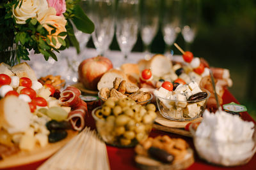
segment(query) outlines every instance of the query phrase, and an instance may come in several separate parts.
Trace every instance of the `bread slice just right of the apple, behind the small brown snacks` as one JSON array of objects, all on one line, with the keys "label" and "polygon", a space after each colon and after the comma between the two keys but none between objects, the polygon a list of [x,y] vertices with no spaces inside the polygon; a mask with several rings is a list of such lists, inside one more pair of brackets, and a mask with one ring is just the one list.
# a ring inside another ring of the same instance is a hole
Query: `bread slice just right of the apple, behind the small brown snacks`
[{"label": "bread slice just right of the apple, behind the small brown snacks", "polygon": [[109,69],[103,76],[100,78],[100,81],[97,85],[98,90],[108,87],[109,89],[113,88],[113,81],[115,81],[115,78],[119,77],[122,80],[127,80],[127,76],[123,71],[120,71],[118,69]]}]

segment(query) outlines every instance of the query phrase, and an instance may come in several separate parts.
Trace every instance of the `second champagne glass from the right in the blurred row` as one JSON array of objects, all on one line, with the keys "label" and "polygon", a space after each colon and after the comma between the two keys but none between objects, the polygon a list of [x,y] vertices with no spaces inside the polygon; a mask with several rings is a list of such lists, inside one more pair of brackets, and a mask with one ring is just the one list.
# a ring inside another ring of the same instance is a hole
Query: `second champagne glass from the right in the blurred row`
[{"label": "second champagne glass from the right in the blurred row", "polygon": [[172,55],[170,48],[180,32],[180,1],[165,0],[163,5],[163,25],[162,32],[164,36],[165,53]]}]

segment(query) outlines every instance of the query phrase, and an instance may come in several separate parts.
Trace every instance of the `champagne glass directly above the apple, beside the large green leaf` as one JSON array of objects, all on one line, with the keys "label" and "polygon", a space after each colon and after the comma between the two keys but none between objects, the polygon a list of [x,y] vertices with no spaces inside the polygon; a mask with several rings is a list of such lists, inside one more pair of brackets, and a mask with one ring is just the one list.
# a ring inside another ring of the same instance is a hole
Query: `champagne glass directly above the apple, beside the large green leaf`
[{"label": "champagne glass directly above the apple, beside the large green leaf", "polygon": [[93,43],[99,55],[108,50],[115,32],[115,0],[92,0],[90,18],[95,25]]}]

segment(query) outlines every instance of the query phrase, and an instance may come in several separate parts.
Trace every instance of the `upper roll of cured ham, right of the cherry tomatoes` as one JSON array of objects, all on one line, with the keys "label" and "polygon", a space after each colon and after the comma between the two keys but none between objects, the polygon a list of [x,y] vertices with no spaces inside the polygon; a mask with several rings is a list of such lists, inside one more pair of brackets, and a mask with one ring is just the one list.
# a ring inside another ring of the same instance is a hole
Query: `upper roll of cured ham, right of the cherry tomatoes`
[{"label": "upper roll of cured ham, right of the cherry tomatoes", "polygon": [[67,87],[63,92],[60,94],[60,104],[63,106],[70,106],[73,108],[74,106],[77,106],[80,102],[80,94],[81,91],[77,89],[76,87]]}]

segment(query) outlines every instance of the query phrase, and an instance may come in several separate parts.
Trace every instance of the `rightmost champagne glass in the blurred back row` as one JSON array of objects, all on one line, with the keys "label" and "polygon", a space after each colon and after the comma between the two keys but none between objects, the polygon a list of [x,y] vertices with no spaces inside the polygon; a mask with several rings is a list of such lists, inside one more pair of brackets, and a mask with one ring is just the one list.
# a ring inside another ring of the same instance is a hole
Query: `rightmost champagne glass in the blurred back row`
[{"label": "rightmost champagne glass in the blurred back row", "polygon": [[185,49],[189,50],[195,39],[200,17],[199,0],[183,0],[182,3],[182,36],[185,40]]}]

